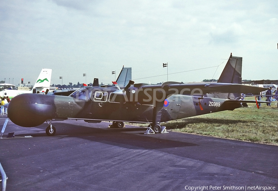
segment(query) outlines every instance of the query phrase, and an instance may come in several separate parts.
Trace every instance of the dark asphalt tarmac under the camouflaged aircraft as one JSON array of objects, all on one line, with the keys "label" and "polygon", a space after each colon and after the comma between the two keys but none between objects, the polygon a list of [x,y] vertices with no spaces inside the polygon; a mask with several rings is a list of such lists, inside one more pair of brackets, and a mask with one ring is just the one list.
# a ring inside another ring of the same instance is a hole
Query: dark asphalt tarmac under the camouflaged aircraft
[{"label": "dark asphalt tarmac under the camouflaged aircraft", "polygon": [[0,139],[6,190],[278,190],[278,146],[109,124],[54,121],[47,136],[9,121],[4,137],[32,138]]}]

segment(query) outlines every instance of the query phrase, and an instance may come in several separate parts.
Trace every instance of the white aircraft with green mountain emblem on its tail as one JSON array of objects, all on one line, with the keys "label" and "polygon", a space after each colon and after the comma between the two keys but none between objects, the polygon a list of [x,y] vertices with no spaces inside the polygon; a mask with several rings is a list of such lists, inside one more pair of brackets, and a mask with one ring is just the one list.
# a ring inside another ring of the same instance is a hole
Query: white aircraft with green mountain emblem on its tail
[{"label": "white aircraft with green mountain emblem on its tail", "polygon": [[[43,68],[40,72],[40,75],[33,86],[33,90],[16,90],[13,88],[7,88],[0,91],[0,96],[9,96],[9,98],[13,98],[19,94],[23,93],[45,93],[49,90],[50,80],[51,80],[52,69]],[[15,86],[15,85],[12,85]],[[48,90],[47,90],[48,89]]]}]

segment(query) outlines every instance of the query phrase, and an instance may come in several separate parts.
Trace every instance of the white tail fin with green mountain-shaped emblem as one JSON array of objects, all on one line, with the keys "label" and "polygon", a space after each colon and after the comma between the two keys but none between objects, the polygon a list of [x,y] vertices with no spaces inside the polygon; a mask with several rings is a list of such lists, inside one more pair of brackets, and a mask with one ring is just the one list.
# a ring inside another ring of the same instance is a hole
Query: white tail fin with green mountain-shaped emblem
[{"label": "white tail fin with green mountain-shaped emblem", "polygon": [[43,68],[40,72],[40,75],[33,86],[33,91],[34,89],[36,92],[45,92],[46,89],[49,89],[50,87],[50,80],[51,80],[51,73],[52,69],[45,69]]}]

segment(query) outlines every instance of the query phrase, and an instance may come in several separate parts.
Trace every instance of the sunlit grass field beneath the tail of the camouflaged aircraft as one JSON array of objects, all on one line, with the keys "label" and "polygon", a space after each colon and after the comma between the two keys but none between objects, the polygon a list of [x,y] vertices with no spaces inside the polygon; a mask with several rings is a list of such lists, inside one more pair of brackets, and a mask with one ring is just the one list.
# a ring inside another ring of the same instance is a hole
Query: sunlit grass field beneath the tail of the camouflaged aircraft
[{"label": "sunlit grass field beneath the tail of the camouflaged aircraft", "polygon": [[[255,97],[246,98],[255,100]],[[265,100],[263,98],[262,100]],[[161,123],[167,130],[278,145],[277,101]]]}]

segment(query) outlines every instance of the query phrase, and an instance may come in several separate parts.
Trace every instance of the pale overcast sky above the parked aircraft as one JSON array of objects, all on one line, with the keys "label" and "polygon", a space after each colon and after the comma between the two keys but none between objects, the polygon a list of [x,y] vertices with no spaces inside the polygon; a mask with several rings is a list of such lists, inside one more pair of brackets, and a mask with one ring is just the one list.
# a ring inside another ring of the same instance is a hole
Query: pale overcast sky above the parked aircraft
[{"label": "pale overcast sky above the parked aircraft", "polygon": [[158,83],[167,62],[168,81],[218,79],[231,52],[242,79],[278,79],[277,10],[277,0],[1,0],[0,81],[34,85],[49,68],[51,84],[111,83],[124,65],[135,83]]}]

